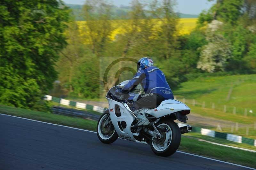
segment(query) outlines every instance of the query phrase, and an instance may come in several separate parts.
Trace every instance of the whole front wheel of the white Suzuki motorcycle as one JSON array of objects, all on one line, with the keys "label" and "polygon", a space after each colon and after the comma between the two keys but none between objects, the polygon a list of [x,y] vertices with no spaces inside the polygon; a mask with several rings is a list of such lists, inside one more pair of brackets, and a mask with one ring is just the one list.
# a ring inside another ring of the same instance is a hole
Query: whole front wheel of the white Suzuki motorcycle
[{"label": "whole front wheel of the white Suzuki motorcycle", "polygon": [[[118,138],[116,130],[109,118],[109,113],[102,114],[97,124],[97,135],[102,143],[113,143]],[[110,120],[108,125],[104,124],[105,121]]]}]

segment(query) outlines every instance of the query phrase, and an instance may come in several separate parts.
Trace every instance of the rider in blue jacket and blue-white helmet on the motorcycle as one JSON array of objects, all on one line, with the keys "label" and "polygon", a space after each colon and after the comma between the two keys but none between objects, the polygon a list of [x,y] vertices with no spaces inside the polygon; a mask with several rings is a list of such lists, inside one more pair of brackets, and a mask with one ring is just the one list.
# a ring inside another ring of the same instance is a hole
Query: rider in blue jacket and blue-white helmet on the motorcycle
[{"label": "rider in blue jacket and blue-white helmet on the motorcycle", "polygon": [[173,99],[173,94],[164,73],[153,66],[154,63],[151,58],[140,58],[137,64],[138,72],[133,76],[132,80],[123,88],[116,89],[116,92],[129,93],[138,84],[142,83],[145,94],[139,95],[138,98],[127,100],[126,103],[131,106],[131,110],[140,120],[137,126],[146,126],[149,121],[142,108],[156,108],[162,101]]}]

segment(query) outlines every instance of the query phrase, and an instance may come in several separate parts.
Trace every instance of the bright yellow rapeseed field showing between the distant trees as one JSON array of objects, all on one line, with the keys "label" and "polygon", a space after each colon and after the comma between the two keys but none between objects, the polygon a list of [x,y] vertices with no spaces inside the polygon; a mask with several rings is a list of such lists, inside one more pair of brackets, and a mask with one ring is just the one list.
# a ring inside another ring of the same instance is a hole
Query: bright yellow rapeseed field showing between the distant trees
[{"label": "bright yellow rapeseed field showing between the distant trees", "polygon": [[[155,28],[157,29],[158,25],[160,25],[161,21],[158,19],[154,19],[156,22]],[[177,26],[177,30],[179,35],[189,34],[195,27],[196,27],[196,21],[197,18],[180,18],[179,24]],[[83,36],[85,34],[88,34],[87,28],[85,26],[86,21],[77,21],[80,35]],[[118,34],[124,34],[127,30],[131,28],[131,20],[111,20],[110,21],[112,26],[115,28],[110,35],[110,39],[113,41],[115,40],[116,35]],[[87,40],[88,41],[88,40]],[[89,43],[89,42],[85,42]]]}]

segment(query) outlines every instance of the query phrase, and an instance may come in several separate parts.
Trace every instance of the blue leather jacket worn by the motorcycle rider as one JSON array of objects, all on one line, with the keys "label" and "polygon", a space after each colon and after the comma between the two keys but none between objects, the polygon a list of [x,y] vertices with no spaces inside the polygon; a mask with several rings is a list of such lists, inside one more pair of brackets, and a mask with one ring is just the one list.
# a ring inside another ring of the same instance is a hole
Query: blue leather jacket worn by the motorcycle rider
[{"label": "blue leather jacket worn by the motorcycle rider", "polygon": [[164,99],[173,99],[173,94],[168,85],[164,73],[157,67],[151,66],[139,71],[133,76],[122,89],[123,93],[128,93],[134,89],[140,82],[145,93],[155,93],[164,97]]}]

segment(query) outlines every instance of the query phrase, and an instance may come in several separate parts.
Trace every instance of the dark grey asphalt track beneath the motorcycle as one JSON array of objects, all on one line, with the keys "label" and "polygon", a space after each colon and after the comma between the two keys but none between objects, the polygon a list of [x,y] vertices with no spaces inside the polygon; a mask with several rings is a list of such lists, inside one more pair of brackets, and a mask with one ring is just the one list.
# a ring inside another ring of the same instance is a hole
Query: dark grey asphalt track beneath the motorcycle
[{"label": "dark grey asphalt track beneath the motorcycle", "polygon": [[118,139],[103,144],[96,133],[0,115],[0,170],[248,169],[176,152],[154,155],[150,147]]}]

